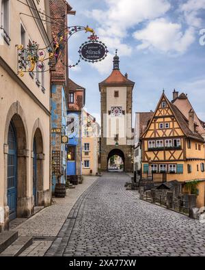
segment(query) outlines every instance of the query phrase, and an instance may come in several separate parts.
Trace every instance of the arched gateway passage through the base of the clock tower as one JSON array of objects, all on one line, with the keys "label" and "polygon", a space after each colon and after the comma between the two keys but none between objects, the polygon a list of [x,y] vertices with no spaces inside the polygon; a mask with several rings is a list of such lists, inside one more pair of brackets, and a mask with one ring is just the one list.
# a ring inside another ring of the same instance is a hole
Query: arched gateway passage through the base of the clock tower
[{"label": "arched gateway passage through the base of the clock tower", "polygon": [[108,171],[122,171],[124,172],[124,152],[120,149],[113,149],[109,152],[107,157],[107,170]]}]

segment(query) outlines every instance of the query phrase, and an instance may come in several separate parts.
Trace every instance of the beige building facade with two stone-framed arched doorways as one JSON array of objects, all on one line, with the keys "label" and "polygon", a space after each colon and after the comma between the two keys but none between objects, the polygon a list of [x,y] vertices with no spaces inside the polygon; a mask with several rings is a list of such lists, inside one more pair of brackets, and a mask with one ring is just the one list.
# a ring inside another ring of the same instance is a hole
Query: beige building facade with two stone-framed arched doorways
[{"label": "beige building facade with two stone-framed arched doorways", "polygon": [[0,9],[1,230],[11,219],[30,217],[34,206],[51,203],[50,74],[33,70],[20,77],[16,48],[33,41],[49,46],[51,29],[38,12],[49,14],[48,1],[1,0]]}]

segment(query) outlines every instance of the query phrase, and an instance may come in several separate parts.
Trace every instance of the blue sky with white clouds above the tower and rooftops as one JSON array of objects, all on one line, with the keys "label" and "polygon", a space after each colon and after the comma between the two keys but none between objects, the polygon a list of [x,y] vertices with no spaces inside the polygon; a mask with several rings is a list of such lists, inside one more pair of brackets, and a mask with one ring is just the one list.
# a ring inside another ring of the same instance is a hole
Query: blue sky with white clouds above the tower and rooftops
[{"label": "blue sky with white clouds above the tower and rooftops", "polygon": [[[69,25],[89,25],[109,48],[104,62],[81,62],[70,69],[70,79],[86,88],[86,109],[100,120],[98,83],[112,70],[115,49],[120,70],[135,81],[133,113],[154,110],[165,89],[169,100],[174,88],[188,94],[198,116],[205,121],[205,0],[68,0],[76,16]],[[70,38],[70,62],[89,34]]]}]

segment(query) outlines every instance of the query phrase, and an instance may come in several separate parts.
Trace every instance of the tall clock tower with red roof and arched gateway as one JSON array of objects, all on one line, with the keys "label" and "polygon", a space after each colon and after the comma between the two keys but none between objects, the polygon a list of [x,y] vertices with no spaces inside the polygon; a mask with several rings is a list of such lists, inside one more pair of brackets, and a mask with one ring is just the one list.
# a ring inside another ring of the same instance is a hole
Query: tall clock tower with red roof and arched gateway
[{"label": "tall clock tower with red roof and arched gateway", "polygon": [[101,170],[108,170],[109,159],[120,156],[124,171],[132,172],[132,107],[135,83],[120,72],[120,58],[116,50],[111,75],[99,83],[101,96]]}]

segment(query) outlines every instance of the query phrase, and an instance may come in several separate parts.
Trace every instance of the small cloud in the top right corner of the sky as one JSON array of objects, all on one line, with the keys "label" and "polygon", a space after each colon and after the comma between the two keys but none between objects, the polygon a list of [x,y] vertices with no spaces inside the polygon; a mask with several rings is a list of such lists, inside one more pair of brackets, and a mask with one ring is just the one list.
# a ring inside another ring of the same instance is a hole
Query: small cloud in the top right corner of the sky
[{"label": "small cloud in the top right corner of the sky", "polygon": [[197,28],[202,27],[202,18],[198,17],[200,10],[205,10],[205,0],[189,0],[180,6],[187,24]]}]

